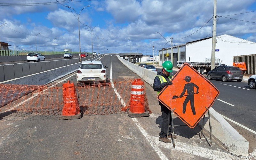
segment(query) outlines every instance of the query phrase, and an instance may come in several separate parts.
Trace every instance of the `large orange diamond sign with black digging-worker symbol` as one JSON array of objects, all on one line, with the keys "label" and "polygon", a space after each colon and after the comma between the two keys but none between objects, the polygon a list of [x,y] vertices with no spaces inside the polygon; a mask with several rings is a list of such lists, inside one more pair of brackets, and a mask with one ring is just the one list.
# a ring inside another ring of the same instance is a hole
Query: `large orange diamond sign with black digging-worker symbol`
[{"label": "large orange diamond sign with black digging-worker symbol", "polygon": [[218,89],[203,75],[185,63],[173,76],[172,85],[157,96],[190,128],[194,128],[219,95]]}]

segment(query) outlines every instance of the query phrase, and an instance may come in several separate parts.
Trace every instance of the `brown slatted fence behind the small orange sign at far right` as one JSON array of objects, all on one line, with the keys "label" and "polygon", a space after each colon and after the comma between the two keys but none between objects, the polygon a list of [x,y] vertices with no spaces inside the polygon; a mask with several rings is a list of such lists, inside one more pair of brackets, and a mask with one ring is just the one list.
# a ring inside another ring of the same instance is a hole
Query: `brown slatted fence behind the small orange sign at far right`
[{"label": "brown slatted fence behind the small orange sign at far right", "polygon": [[256,74],[256,54],[234,56],[233,62],[245,62],[246,64],[246,74]]}]

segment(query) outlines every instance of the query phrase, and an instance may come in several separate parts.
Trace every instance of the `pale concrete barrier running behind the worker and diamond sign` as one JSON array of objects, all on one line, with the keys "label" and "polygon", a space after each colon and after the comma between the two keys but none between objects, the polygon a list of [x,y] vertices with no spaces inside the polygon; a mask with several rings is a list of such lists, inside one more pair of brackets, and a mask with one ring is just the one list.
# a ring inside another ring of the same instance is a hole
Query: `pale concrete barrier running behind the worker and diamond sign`
[{"label": "pale concrete barrier running behind the worker and diamond sign", "polygon": [[[153,87],[156,73],[146,68],[142,68],[127,60],[124,60],[119,55],[118,59],[134,73],[144,79],[148,84]],[[212,135],[218,140],[229,152],[238,156],[247,156],[249,150],[249,142],[239,134],[218,112],[210,108]],[[202,121],[202,120],[201,120]],[[202,127],[202,123],[199,126]],[[210,132],[209,122],[204,125],[204,131]]]}]

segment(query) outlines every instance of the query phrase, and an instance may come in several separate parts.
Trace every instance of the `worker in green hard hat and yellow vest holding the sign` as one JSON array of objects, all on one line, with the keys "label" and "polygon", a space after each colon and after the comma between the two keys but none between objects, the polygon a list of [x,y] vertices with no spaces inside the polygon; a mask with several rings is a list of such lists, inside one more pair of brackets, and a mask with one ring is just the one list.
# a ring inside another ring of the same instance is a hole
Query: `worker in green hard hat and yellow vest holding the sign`
[{"label": "worker in green hard hat and yellow vest holding the sign", "polygon": [[[173,65],[171,61],[165,61],[163,63],[162,72],[157,73],[153,85],[154,91],[157,91],[157,94],[159,94],[165,86],[172,85],[172,76],[170,75],[170,72],[172,72],[172,67]],[[169,127],[171,121],[168,123],[169,109],[166,108],[160,101],[159,105],[161,106],[162,112],[162,125],[161,132],[159,133],[159,140],[165,143],[171,143],[172,141],[168,139],[171,138],[171,135],[167,135],[167,129],[169,129],[169,133],[171,133],[171,129]],[[174,135],[173,138],[176,138],[176,136]]]}]

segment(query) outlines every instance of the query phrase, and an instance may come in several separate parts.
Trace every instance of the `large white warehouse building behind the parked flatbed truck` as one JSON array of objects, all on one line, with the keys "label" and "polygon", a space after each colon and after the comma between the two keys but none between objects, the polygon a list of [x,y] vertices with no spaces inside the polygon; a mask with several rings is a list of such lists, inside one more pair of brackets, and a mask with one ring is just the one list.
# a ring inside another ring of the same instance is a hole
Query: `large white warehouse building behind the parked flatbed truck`
[{"label": "large white warehouse building behind the parked flatbed truck", "polygon": [[[232,66],[233,56],[256,54],[255,42],[226,34],[217,36],[216,41],[215,57],[220,58],[222,64]],[[160,50],[159,57],[160,65],[164,59],[164,61],[171,60],[174,67],[177,67],[177,61],[204,62],[205,58],[212,57],[212,37],[174,46],[172,52],[171,48]]]}]

